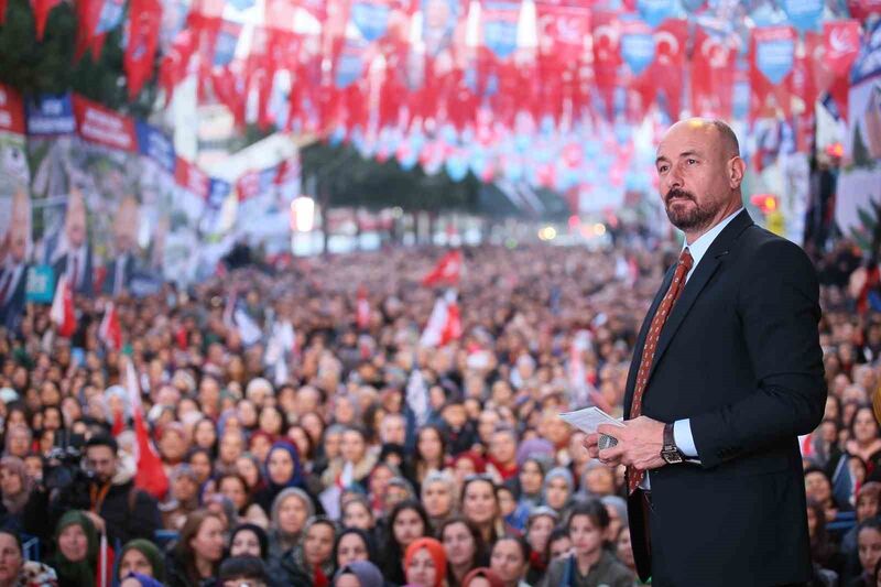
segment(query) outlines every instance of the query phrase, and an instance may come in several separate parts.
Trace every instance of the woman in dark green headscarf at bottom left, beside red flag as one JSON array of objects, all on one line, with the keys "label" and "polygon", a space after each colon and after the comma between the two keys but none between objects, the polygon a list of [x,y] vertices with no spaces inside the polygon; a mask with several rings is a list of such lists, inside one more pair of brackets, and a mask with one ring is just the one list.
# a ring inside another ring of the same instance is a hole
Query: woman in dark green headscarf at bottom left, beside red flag
[{"label": "woman in dark green headscarf at bottom left, beside red flag", "polygon": [[[57,551],[48,559],[58,575],[59,587],[100,587],[112,581],[113,551],[101,541],[88,515],[70,510],[55,529]],[[102,552],[104,551],[104,552]],[[106,583],[101,581],[105,577]]]}]

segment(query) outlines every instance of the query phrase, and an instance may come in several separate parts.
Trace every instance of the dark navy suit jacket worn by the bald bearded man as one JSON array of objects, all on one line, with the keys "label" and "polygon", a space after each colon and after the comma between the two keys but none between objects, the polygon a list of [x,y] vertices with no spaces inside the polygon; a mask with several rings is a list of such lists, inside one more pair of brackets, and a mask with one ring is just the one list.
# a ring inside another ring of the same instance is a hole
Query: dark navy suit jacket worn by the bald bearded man
[{"label": "dark navy suit jacket worn by the bald bearded man", "polygon": [[[673,272],[637,341],[627,417],[646,330]],[[651,471],[651,513],[642,491],[628,500],[637,566],[653,585],[811,579],[797,435],[819,424],[826,402],[819,316],[807,256],[746,211],[688,279],[661,333],[642,413],[690,418],[700,465]]]}]

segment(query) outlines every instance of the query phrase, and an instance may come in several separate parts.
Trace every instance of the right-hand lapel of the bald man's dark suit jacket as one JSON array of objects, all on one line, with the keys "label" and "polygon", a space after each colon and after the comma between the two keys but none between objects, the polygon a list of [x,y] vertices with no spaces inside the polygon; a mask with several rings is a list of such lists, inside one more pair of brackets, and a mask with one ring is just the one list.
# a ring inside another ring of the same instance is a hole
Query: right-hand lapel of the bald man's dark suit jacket
[{"label": "right-hand lapel of the bald man's dark suit jacket", "polygon": [[731,220],[727,227],[725,227],[725,229],[719,233],[718,237],[716,237],[716,240],[713,241],[713,244],[710,244],[709,249],[704,254],[704,258],[700,260],[700,263],[698,263],[697,269],[695,269],[695,272],[692,273],[692,276],[685,284],[685,289],[679,295],[679,298],[673,305],[673,309],[670,313],[670,317],[667,317],[667,322],[661,329],[661,337],[657,339],[657,349],[655,349],[654,352],[654,362],[652,362],[652,367],[649,370],[649,381],[651,381],[655,367],[657,367],[657,363],[664,356],[664,351],[667,349],[667,346],[670,346],[670,341],[676,335],[676,330],[678,330],[682,322],[688,314],[688,311],[692,309],[697,296],[700,295],[700,292],[707,285],[710,278],[713,278],[713,275],[719,269],[719,265],[721,264],[725,256],[728,254],[728,250],[731,244],[733,244],[740,233],[751,225],[752,218],[747,210],[743,210],[733,220]]}]

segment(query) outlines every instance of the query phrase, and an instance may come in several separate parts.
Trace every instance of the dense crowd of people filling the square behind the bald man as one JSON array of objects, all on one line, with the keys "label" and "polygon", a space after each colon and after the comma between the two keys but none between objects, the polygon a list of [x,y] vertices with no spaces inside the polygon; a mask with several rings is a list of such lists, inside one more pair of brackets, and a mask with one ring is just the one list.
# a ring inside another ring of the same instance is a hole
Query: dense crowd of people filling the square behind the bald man
[{"label": "dense crowd of people filling the square behind the bald man", "polygon": [[[558,414],[621,415],[677,247],[465,250],[461,336],[429,346],[440,291],[421,281],[440,254],[122,293],[121,348],[99,335],[105,297],[76,296],[70,338],[29,305],[0,337],[0,587],[637,585],[623,467],[589,459]],[[857,311],[851,246],[817,267],[829,399],[802,443],[815,584],[874,586],[881,313]],[[140,422],[164,491],[137,477]]]}]

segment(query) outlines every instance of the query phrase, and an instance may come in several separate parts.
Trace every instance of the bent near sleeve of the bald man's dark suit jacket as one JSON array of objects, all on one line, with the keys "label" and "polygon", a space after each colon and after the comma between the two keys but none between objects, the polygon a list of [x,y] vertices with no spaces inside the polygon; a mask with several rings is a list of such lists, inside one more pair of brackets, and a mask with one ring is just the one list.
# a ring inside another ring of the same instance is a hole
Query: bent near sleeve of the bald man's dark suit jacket
[{"label": "bent near sleeve of the bald man's dark suit jacket", "polygon": [[737,312],[758,387],[690,418],[704,468],[807,434],[826,404],[816,271],[797,246],[771,240],[749,260]]}]

